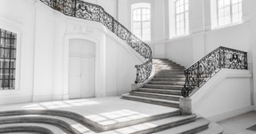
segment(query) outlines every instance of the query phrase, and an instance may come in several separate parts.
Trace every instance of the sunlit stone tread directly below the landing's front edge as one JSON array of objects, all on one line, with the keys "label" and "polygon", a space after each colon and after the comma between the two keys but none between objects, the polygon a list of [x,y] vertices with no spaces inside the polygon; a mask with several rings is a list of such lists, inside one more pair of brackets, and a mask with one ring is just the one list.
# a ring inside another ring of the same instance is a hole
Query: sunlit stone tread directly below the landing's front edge
[{"label": "sunlit stone tread directly below the landing's front edge", "polygon": [[[145,122],[141,124],[137,124],[134,126],[126,127],[126,128],[121,128],[119,130],[111,130],[111,131],[106,131],[103,132],[103,134],[112,134],[112,133],[125,133],[125,134],[130,134],[130,133],[144,133],[142,131],[144,130],[153,130],[154,128],[161,128],[162,126],[165,126],[167,124],[171,123],[176,123],[176,122],[182,122],[184,120],[189,120],[195,118],[195,114],[191,115],[178,115],[178,116],[172,116],[169,118],[161,119],[158,121],[153,121],[153,122]],[[157,129],[159,130],[159,129]],[[145,133],[152,133],[151,131],[147,131]]]}]

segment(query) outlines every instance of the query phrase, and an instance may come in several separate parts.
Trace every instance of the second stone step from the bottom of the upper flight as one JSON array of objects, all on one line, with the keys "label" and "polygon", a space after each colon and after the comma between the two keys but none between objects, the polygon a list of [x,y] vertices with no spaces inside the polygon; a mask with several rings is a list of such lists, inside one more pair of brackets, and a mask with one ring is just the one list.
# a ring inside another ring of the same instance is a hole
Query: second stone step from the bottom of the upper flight
[{"label": "second stone step from the bottom of the upper flight", "polygon": [[142,92],[142,91],[130,91],[130,95],[145,97],[145,98],[153,98],[153,99],[166,99],[166,100],[173,100],[173,101],[179,101],[179,99],[181,98],[181,96],[178,96],[178,95],[149,93],[149,92]]}]

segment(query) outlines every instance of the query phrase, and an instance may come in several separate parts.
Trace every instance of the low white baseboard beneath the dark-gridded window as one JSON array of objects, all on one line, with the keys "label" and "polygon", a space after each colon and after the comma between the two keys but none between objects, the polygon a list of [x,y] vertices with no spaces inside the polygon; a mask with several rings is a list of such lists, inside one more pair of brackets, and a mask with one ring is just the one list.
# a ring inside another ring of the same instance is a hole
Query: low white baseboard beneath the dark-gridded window
[{"label": "low white baseboard beneath the dark-gridded window", "polygon": [[31,96],[1,96],[0,105],[28,103],[32,101]]}]

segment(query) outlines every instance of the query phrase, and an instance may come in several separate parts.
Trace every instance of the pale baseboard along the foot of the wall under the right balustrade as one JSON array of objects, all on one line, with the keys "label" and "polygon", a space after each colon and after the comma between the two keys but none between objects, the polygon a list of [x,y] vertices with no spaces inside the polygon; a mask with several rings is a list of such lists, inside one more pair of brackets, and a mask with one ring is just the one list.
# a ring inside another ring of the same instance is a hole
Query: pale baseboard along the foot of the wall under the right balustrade
[{"label": "pale baseboard along the foot of the wall under the right balustrade", "polygon": [[255,109],[255,106],[244,106],[242,108],[238,108],[238,109],[235,109],[235,110],[223,113],[223,114],[218,114],[218,115],[213,115],[213,116],[207,117],[207,119],[210,120],[211,122],[223,121],[228,118],[234,117],[236,115],[250,112],[253,110],[253,107]]}]

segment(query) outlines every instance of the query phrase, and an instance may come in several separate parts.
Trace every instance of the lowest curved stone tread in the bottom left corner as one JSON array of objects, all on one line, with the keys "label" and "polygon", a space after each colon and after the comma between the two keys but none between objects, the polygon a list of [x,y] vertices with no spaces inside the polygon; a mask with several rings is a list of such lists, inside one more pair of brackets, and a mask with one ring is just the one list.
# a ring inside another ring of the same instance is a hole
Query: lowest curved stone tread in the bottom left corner
[{"label": "lowest curved stone tread in the bottom left corner", "polygon": [[[3,129],[10,129],[13,127],[28,127],[28,131],[26,131],[26,133],[29,132],[29,127],[40,127],[40,128],[45,128],[47,130],[51,130],[52,132],[54,132],[54,134],[71,134],[70,132],[64,131],[60,128],[58,128],[57,126],[54,125],[50,125],[50,124],[45,124],[45,123],[9,123],[9,124],[1,124],[0,125],[0,130]],[[21,132],[21,131],[20,131]],[[19,134],[20,134],[19,132]],[[12,132],[12,134],[14,134],[16,132]],[[25,133],[25,132],[24,132]],[[31,132],[32,133],[32,132]],[[33,132],[36,133],[36,132]],[[17,131],[18,134],[18,131]]]}]

